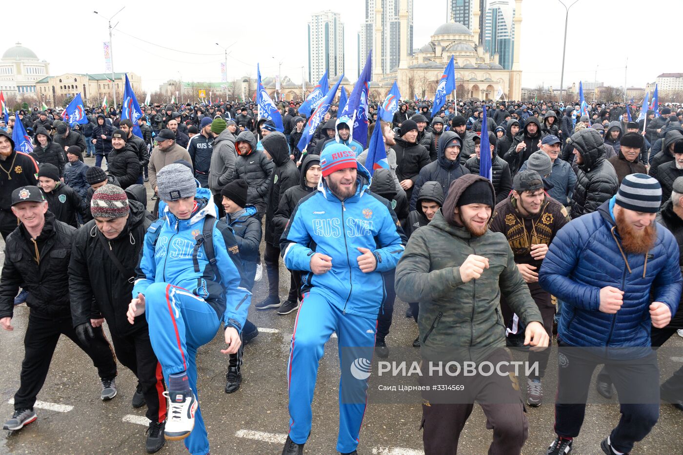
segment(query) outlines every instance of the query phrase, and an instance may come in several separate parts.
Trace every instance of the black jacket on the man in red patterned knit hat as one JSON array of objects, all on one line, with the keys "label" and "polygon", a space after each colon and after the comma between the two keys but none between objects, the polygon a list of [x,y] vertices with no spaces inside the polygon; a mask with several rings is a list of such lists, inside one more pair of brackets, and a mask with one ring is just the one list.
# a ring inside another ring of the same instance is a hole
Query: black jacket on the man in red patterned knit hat
[{"label": "black jacket on the man in red patterned knit hat", "polygon": [[[107,320],[109,330],[118,336],[147,329],[145,315],[138,316],[135,318],[135,324],[130,325],[126,312],[130,303],[130,293],[133,292],[133,283],[129,279],[135,276],[145,232],[151,221],[145,217],[142,204],[129,200],[128,205],[128,221],[117,238],[108,240],[104,237],[95,221],[83,225],[74,236],[71,260],[68,264],[74,327],[89,322],[91,318],[103,316]],[[122,275],[105,248],[111,248],[111,253],[126,271],[130,271],[128,276]]]}]

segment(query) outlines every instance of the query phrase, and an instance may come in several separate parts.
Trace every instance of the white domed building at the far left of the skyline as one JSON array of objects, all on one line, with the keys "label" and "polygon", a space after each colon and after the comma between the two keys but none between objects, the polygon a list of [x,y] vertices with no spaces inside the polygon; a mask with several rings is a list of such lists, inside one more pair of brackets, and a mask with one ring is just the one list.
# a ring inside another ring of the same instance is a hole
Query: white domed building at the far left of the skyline
[{"label": "white domed building at the far left of the skyline", "polygon": [[10,47],[0,58],[0,90],[17,96],[36,96],[36,81],[50,74],[50,64],[40,60],[20,42]]}]

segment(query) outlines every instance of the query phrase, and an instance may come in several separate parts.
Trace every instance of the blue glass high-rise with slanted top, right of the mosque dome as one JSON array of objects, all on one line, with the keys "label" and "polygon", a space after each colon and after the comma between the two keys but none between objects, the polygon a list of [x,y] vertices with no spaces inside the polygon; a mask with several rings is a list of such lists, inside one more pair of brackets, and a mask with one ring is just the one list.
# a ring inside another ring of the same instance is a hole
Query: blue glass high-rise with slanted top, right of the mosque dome
[{"label": "blue glass high-rise with slanted top, right of the mosque dome", "polygon": [[486,8],[484,51],[498,55],[498,63],[512,70],[514,59],[514,8],[509,0],[493,0]]}]

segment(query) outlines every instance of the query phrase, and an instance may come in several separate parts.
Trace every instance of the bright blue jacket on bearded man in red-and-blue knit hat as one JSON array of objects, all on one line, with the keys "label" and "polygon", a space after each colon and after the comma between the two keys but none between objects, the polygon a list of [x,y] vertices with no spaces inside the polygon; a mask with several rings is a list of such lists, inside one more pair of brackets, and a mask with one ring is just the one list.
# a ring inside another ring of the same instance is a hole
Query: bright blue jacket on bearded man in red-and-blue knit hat
[{"label": "bright blue jacket on bearded man in red-and-blue knit hat", "polygon": [[[322,157],[339,147],[348,150],[341,144],[329,146]],[[305,271],[303,292],[313,288],[342,312],[375,319],[387,292],[381,272],[395,268],[406,236],[387,199],[367,190],[370,174],[363,165],[358,164],[356,193],[344,202],[333,195],[324,180],[320,179],[318,191],[301,199],[282,234],[280,248],[285,266]],[[361,272],[358,247],[374,253],[375,271]],[[331,256],[331,271],[313,275],[313,253]],[[378,286],[380,283],[382,286]]]}]

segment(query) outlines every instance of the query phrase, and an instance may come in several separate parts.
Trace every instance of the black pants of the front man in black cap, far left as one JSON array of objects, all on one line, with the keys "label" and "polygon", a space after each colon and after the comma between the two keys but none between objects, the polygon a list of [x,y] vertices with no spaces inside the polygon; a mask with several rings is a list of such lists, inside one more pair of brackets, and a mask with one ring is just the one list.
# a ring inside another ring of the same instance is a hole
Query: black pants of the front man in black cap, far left
[{"label": "black pants of the front man in black cap, far left", "polygon": [[14,394],[14,409],[33,409],[36,396],[42,389],[50,370],[50,362],[59,341],[59,335],[66,335],[76,343],[92,359],[102,379],[113,379],[116,376],[116,362],[111,346],[104,337],[102,327],[93,329],[95,338],[90,346],[81,344],[76,331],[72,327],[70,316],[55,318],[40,314],[33,309],[29,313],[29,324],[24,336],[24,361],[21,363],[21,385]]}]

